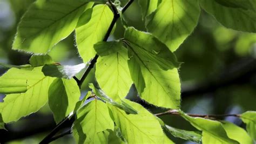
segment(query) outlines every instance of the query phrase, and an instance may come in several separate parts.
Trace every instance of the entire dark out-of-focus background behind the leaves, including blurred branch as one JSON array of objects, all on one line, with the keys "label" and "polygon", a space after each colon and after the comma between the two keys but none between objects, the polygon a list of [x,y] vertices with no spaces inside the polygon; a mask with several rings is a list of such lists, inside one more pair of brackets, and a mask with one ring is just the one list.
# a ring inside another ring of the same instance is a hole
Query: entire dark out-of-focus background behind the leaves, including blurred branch
[{"label": "entire dark out-of-focus background behind the leaves, including blurred branch", "polygon": [[[33,0],[0,1],[0,62],[12,65],[28,64],[30,54],[11,50],[19,19]],[[145,30],[140,9],[134,2],[125,12],[127,23],[139,30]],[[124,29],[120,20],[110,39],[119,39]],[[74,42],[74,33],[53,47],[49,53],[56,62],[65,65],[82,63]],[[238,32],[221,26],[212,16],[201,11],[199,24],[175,52],[183,64],[179,70],[181,79],[181,109],[187,113],[228,114],[256,111],[256,35]],[[0,67],[2,75],[7,69]],[[80,77],[81,74],[78,74]],[[93,83],[93,70],[83,85],[83,94]],[[134,97],[131,89],[129,98],[139,102],[153,113],[166,109],[156,108]],[[0,101],[4,95],[0,95]],[[161,116],[166,124],[187,130],[194,130],[179,116]],[[237,118],[226,118],[244,127]],[[38,143],[55,127],[48,105],[39,112],[6,125],[9,130],[0,130],[0,141],[10,143]],[[170,136],[170,135],[169,135]],[[172,136],[170,136],[172,138]],[[11,140],[11,141],[10,141]],[[174,142],[190,143],[172,138]],[[72,136],[65,136],[52,143],[73,143]]]}]

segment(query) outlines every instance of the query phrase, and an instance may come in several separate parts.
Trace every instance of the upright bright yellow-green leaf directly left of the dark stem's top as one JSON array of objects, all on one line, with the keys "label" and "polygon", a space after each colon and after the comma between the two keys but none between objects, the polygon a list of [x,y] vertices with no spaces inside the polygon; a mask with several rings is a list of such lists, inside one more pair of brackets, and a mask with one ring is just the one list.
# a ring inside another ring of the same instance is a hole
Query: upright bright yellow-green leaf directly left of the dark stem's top
[{"label": "upright bright yellow-green leaf directly left of the dark stem's top", "polygon": [[113,13],[109,6],[99,4],[93,7],[89,22],[76,28],[78,52],[84,62],[95,57],[96,52],[93,45],[103,40],[112,19]]}]

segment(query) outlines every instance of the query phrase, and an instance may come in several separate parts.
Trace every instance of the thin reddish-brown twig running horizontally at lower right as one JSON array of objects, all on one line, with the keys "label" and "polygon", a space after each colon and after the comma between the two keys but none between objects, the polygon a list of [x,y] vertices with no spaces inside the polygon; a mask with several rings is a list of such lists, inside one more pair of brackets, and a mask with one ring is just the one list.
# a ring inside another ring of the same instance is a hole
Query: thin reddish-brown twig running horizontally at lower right
[{"label": "thin reddish-brown twig running horizontally at lower right", "polygon": [[[179,111],[171,109],[169,111],[163,112],[163,113],[157,113],[154,114],[155,116],[161,116],[161,115],[180,115]],[[227,116],[235,116],[240,117],[240,114],[190,114],[187,113],[187,115],[192,117],[200,117],[200,118],[221,118],[221,117],[227,117]]]}]

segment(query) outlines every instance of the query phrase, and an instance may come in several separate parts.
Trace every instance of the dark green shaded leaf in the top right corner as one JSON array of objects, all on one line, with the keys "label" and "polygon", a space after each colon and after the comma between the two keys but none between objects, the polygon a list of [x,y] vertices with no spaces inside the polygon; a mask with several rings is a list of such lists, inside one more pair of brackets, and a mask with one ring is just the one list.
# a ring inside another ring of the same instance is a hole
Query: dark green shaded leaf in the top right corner
[{"label": "dark green shaded leaf in the top right corner", "polygon": [[[230,2],[230,1],[227,1]],[[233,1],[234,3],[235,1]],[[231,8],[220,4],[216,0],[200,0],[201,7],[214,16],[226,28],[239,31],[256,32],[256,3],[254,0],[245,0],[241,3],[251,3],[252,9]],[[240,5],[240,4],[237,4]],[[241,5],[240,5],[241,6]]]}]

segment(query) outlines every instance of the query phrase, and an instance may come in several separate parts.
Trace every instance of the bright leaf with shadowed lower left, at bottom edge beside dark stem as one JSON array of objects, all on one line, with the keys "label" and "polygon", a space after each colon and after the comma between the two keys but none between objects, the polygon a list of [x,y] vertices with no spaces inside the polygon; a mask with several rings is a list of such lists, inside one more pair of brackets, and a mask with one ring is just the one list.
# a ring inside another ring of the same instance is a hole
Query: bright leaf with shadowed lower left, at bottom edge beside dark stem
[{"label": "bright leaf with shadowed lower left, at bottom edge beside dark stem", "polygon": [[114,129],[107,105],[100,100],[92,100],[77,112],[73,125],[73,135],[78,143],[106,143],[109,135],[106,129]]}]

